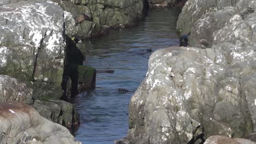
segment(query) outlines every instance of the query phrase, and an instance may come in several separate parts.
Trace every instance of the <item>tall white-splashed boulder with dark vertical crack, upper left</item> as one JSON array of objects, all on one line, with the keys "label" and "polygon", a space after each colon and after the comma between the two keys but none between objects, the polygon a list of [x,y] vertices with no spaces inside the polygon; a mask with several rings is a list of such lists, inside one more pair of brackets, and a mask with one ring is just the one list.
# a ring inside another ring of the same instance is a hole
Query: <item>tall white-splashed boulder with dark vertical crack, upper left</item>
[{"label": "tall white-splashed boulder with dark vertical crack, upper left", "polygon": [[33,81],[37,97],[60,97],[64,11],[53,2],[36,1],[10,3],[0,11],[1,74]]}]

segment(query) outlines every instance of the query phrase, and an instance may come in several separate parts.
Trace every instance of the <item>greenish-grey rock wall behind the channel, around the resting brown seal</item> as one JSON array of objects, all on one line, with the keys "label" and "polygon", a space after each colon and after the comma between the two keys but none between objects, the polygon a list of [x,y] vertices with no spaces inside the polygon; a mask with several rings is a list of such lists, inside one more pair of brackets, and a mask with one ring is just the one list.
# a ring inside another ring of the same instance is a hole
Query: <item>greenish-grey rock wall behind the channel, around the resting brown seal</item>
[{"label": "greenish-grey rock wall behind the channel, around the resting brown seal", "polygon": [[88,15],[92,21],[83,21],[76,26],[77,37],[90,38],[106,34],[109,28],[136,25],[142,16],[143,0],[108,0],[108,1],[60,1],[63,10],[75,18],[78,14]]}]

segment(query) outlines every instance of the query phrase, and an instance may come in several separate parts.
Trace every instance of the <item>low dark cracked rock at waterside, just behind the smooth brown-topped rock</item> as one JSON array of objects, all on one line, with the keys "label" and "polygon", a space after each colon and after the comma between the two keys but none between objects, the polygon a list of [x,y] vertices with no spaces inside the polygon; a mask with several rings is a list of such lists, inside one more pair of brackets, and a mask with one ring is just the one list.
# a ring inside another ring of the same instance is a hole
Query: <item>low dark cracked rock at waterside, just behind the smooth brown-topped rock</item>
[{"label": "low dark cracked rock at waterside, just behind the smooth brown-topped rock", "polygon": [[78,127],[79,114],[74,110],[74,106],[62,100],[36,100],[32,105],[34,109],[44,118],[59,123],[69,130]]}]

